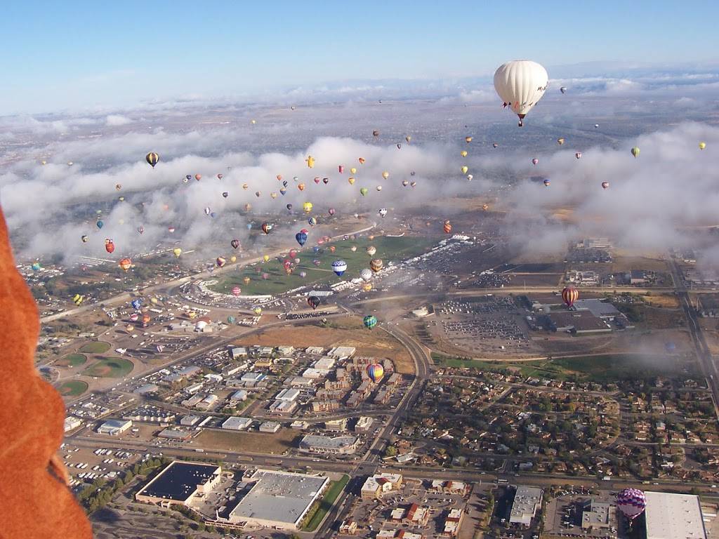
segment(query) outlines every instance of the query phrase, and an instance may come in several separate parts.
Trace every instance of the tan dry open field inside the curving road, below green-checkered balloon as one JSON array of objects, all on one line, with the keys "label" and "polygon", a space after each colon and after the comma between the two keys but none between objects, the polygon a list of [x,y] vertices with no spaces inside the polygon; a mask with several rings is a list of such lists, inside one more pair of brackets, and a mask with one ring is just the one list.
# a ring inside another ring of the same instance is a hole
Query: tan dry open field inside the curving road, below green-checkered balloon
[{"label": "tan dry open field inside the curving road, below green-checkered balloon", "polygon": [[262,331],[253,335],[251,342],[239,340],[237,344],[287,345],[296,348],[354,346],[359,356],[388,357],[394,361],[397,372],[414,373],[414,363],[404,346],[385,331],[365,328],[360,318],[335,319],[326,325],[312,322],[302,326]]}]

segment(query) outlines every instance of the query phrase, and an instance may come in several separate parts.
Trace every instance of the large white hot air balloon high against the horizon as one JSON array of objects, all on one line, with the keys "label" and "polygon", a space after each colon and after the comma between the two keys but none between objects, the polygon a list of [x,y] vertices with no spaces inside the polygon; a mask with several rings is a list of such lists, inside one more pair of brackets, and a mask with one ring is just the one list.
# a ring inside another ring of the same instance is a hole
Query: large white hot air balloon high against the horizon
[{"label": "large white hot air balloon high against the horizon", "polygon": [[513,60],[500,65],[495,71],[495,90],[499,94],[504,106],[519,116],[519,126],[523,119],[537,104],[544,92],[549,75],[541,65],[531,60]]}]

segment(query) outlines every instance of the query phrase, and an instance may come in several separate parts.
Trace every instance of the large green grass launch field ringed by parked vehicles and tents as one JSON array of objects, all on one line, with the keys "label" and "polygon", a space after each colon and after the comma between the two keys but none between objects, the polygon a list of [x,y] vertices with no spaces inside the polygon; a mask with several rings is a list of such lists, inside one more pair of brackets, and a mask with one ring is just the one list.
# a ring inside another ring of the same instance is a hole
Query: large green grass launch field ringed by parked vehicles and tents
[{"label": "large green grass launch field ringed by parked vehicles and tents", "polygon": [[[352,279],[359,277],[359,272],[365,267],[370,267],[372,258],[380,258],[385,263],[398,262],[402,259],[411,257],[414,254],[421,254],[429,247],[434,245],[437,238],[415,238],[400,237],[388,238],[386,236],[377,236],[370,241],[366,237],[358,239],[348,239],[347,241],[333,241],[331,246],[335,247],[335,252],[330,252],[329,246],[322,245],[319,252],[314,252],[312,247],[306,244],[304,249],[297,246],[297,257],[300,263],[293,271],[292,275],[285,274],[283,262],[285,258],[279,257],[270,259],[269,262],[257,263],[254,266],[245,266],[239,268],[236,272],[228,272],[219,277],[219,282],[211,286],[216,292],[229,294],[232,287],[239,286],[243,294],[281,294],[286,290],[291,290],[299,286],[332,284],[338,280]],[[374,257],[367,254],[367,246],[372,245],[377,249]],[[356,251],[352,251],[352,247],[357,247]],[[347,262],[347,272],[342,277],[337,277],[332,271],[331,264],[337,259]],[[313,260],[319,260],[319,265],[315,265]],[[305,277],[300,277],[300,272],[306,272]],[[262,274],[267,274],[267,279],[262,279]],[[249,277],[251,281],[245,285],[244,277]]]}]

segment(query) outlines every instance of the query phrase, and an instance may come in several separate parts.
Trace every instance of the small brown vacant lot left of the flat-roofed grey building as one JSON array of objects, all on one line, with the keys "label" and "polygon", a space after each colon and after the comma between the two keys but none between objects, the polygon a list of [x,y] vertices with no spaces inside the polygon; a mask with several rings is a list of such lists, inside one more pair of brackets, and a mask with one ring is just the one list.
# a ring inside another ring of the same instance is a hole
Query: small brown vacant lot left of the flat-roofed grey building
[{"label": "small brown vacant lot left of the flat-roofed grey building", "polygon": [[282,428],[275,434],[205,429],[196,438],[196,443],[206,449],[281,455],[296,446],[294,441],[298,436],[296,430],[289,428]]}]

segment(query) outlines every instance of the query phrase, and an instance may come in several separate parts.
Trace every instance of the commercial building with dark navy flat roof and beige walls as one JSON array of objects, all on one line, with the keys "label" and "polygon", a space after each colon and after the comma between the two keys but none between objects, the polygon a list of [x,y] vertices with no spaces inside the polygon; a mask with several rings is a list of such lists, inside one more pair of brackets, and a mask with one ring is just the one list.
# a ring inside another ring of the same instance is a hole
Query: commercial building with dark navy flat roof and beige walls
[{"label": "commercial building with dark navy flat roof and beige walls", "polygon": [[190,505],[203,497],[221,481],[222,469],[216,464],[173,461],[152,481],[135,494],[138,502],[164,507],[172,504]]}]

